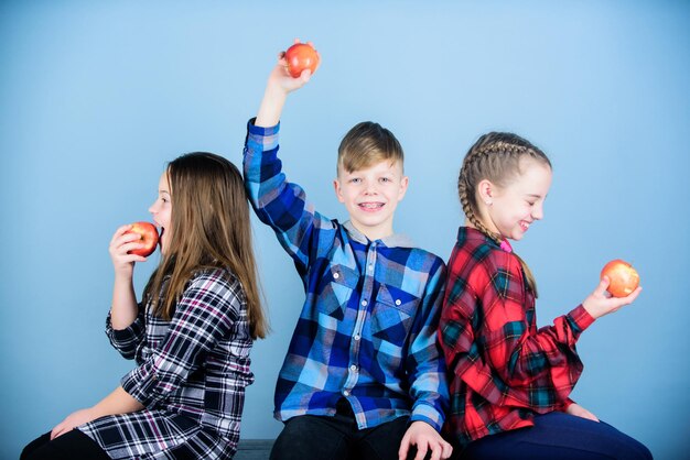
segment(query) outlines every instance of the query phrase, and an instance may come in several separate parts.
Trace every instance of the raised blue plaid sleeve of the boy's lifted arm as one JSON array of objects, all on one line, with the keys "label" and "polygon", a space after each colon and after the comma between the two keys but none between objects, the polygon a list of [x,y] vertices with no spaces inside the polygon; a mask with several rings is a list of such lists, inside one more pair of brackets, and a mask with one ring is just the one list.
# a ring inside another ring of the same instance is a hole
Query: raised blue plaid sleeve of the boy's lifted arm
[{"label": "raised blue plaid sleeve of the boy's lifted arm", "polygon": [[[304,275],[311,254],[313,238],[323,240],[335,234],[333,222],[314,210],[306,201],[304,189],[289,183],[282,172],[282,162],[278,158],[278,132],[280,123],[271,128],[261,128],[247,123],[247,140],[244,151],[245,187],[249,200],[259,219],[270,226],[297,264],[300,275]],[[315,230],[333,230],[320,231]]]}]

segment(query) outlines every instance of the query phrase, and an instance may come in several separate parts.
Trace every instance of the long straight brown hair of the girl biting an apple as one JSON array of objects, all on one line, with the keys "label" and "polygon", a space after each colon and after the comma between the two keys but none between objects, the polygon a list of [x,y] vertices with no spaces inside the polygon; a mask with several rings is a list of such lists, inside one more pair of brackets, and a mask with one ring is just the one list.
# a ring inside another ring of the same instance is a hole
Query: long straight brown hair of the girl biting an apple
[{"label": "long straight brown hair of the girl biting an apple", "polygon": [[228,160],[207,152],[179,156],[170,162],[166,174],[172,238],[147,284],[144,298],[157,316],[170,320],[195,272],[227,269],[244,289],[251,337],[266,337],[268,322],[241,174]]}]

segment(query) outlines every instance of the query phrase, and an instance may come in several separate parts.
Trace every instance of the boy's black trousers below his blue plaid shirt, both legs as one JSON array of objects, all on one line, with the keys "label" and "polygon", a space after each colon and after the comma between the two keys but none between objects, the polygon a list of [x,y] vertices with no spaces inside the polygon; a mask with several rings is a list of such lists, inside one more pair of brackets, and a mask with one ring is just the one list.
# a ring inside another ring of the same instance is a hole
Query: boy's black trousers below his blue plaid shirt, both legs
[{"label": "boy's black trousers below his blue plaid shirt, both legs", "polygon": [[[349,403],[341,399],[335,416],[301,415],[285,423],[271,450],[271,460],[398,460],[409,417],[358,429]],[[410,448],[408,459],[417,454]],[[429,454],[428,454],[429,457]]]}]

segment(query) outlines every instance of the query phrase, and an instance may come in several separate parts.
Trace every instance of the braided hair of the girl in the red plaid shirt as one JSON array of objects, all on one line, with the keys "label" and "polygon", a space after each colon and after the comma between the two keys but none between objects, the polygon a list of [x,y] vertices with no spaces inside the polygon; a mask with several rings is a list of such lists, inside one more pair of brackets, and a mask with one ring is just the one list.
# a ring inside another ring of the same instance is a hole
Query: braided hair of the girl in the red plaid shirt
[{"label": "braided hair of the girl in the red plaid shirt", "polygon": [[[457,177],[457,195],[465,217],[474,228],[499,245],[503,237],[490,231],[477,217],[479,208],[476,186],[485,178],[495,184],[504,183],[510,175],[519,173],[520,158],[524,156],[543,162],[551,167],[547,155],[529,141],[511,133],[490,132],[482,135],[470,149]],[[522,266],[527,285],[537,296],[537,283],[529,266],[519,255],[515,256]]]}]

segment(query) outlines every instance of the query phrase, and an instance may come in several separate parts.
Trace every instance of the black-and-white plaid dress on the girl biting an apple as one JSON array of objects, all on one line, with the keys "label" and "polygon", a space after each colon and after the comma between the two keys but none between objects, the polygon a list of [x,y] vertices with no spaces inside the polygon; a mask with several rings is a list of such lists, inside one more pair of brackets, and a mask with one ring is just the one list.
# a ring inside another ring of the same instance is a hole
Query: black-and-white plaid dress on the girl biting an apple
[{"label": "black-and-white plaid dress on the girl biting an apple", "polygon": [[114,459],[228,459],[239,440],[252,340],[239,282],[226,270],[196,273],[170,321],[142,308],[106,332],[137,368],[122,388],[145,408],[78,427]]}]

